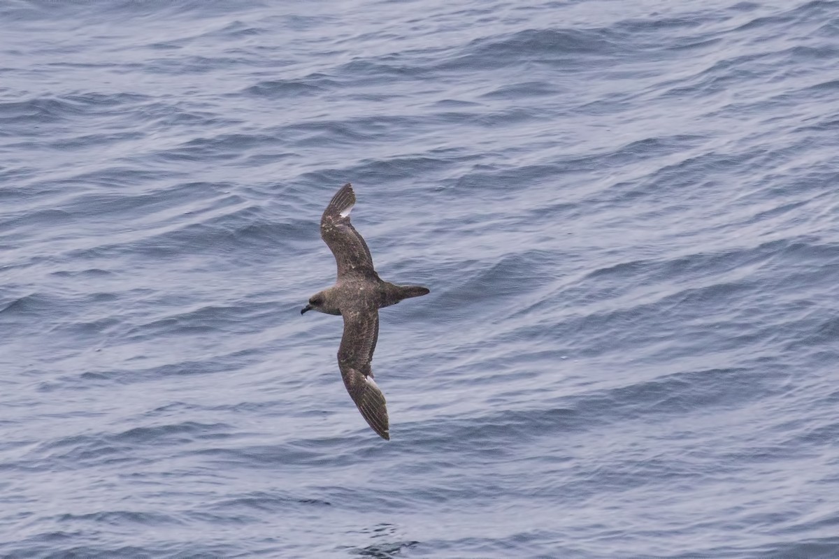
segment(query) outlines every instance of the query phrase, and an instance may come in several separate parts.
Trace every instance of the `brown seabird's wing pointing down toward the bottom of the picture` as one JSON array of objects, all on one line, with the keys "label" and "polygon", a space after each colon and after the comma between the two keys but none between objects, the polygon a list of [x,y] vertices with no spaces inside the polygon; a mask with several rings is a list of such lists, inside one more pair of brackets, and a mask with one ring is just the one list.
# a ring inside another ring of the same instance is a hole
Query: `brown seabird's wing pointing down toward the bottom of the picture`
[{"label": "brown seabird's wing pointing down toward the bottom of the picture", "polygon": [[373,380],[370,361],[378,339],[378,309],[342,310],[344,335],[338,348],[338,368],[344,386],[373,431],[390,440],[388,407]]}]

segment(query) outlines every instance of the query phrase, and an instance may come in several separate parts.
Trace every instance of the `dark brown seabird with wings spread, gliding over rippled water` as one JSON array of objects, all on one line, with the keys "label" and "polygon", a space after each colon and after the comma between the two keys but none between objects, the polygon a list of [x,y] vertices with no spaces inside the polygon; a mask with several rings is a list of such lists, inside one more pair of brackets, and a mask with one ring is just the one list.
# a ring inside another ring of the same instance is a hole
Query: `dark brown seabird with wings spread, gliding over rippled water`
[{"label": "dark brown seabird with wings spread, gliding over rippled water", "polygon": [[320,217],[320,236],[335,256],[338,277],[334,286],[312,295],[300,314],[315,310],[344,317],[344,334],[338,346],[344,386],[373,431],[390,440],[388,408],[370,368],[378,340],[378,309],[426,295],[429,289],[394,285],[378,277],[367,243],[350,223],[355,203],[352,185],[344,184]]}]

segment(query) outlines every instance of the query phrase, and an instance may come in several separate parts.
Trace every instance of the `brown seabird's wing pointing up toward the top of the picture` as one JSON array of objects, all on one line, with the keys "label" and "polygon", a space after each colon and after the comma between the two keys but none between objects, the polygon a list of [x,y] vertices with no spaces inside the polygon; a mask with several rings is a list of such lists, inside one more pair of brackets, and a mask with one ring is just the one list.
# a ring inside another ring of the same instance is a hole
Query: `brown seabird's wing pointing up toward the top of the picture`
[{"label": "brown seabird's wing pointing up toward the top of the picture", "polygon": [[367,243],[350,223],[350,210],[355,204],[352,185],[344,184],[320,217],[320,236],[335,256],[339,279],[352,275],[378,278]]}]

